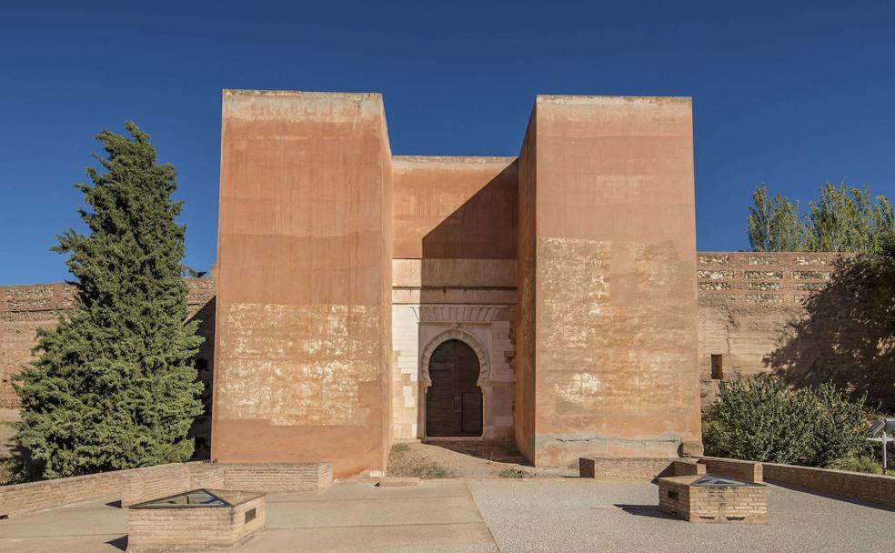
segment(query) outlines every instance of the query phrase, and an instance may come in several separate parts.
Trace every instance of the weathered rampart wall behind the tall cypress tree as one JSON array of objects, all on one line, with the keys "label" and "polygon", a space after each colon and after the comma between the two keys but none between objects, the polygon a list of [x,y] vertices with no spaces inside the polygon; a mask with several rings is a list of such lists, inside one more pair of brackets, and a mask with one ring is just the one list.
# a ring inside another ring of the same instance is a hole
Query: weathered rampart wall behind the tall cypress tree
[{"label": "weathered rampart wall behind the tall cypress tree", "polygon": [[[214,273],[213,273],[214,275]],[[205,338],[196,355],[199,377],[206,385],[206,415],[196,420],[196,457],[206,458],[211,436],[211,376],[215,357],[215,277],[187,278],[186,302],[190,320],[198,319],[197,334]],[[18,419],[18,397],[12,377],[31,360],[37,328],[54,327],[59,314],[72,307],[75,290],[59,284],[0,287],[0,457],[10,452],[13,428],[4,424]]]}]

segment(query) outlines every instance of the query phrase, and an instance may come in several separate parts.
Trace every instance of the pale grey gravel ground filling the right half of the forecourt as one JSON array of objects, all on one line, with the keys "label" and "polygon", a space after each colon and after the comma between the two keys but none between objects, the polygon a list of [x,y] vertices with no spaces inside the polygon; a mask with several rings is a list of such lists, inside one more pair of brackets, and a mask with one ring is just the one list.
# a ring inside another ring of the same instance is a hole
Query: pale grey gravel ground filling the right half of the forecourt
[{"label": "pale grey gravel ground filling the right half of the forecourt", "polygon": [[[501,553],[895,551],[895,512],[769,486],[768,525],[688,524],[651,484],[470,480]],[[622,506],[618,508],[617,506]]]}]

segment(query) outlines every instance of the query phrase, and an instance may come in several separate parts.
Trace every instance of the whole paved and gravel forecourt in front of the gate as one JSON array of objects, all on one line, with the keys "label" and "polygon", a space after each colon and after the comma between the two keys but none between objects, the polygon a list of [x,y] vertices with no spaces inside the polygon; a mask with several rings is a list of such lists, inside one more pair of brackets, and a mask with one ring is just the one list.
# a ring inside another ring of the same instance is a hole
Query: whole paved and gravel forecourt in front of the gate
[{"label": "whole paved and gravel forecourt in front of the gate", "polygon": [[[343,482],[315,496],[268,495],[266,532],[236,551],[895,550],[890,509],[771,486],[767,526],[699,525],[659,512],[657,489],[580,478]],[[0,520],[0,552],[116,553],[126,531],[124,510],[95,501]]]}]

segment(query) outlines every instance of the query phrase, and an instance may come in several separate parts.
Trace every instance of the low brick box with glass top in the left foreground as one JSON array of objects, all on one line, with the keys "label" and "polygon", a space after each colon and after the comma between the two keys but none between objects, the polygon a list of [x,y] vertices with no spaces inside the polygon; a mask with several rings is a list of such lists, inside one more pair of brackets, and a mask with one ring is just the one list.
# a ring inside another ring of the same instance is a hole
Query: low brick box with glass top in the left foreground
[{"label": "low brick box with glass top in the left foreground", "polygon": [[127,550],[232,548],[264,527],[263,494],[197,489],[128,508]]}]

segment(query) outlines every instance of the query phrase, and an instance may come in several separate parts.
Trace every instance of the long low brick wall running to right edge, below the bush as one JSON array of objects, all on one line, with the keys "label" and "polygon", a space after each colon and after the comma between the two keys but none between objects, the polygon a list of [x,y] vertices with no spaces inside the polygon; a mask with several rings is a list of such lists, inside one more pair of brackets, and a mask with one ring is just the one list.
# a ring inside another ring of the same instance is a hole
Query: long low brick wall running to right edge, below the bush
[{"label": "long low brick wall running to right edge, below the bush", "polygon": [[895,507],[895,477],[763,463],[768,482]]}]

